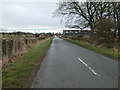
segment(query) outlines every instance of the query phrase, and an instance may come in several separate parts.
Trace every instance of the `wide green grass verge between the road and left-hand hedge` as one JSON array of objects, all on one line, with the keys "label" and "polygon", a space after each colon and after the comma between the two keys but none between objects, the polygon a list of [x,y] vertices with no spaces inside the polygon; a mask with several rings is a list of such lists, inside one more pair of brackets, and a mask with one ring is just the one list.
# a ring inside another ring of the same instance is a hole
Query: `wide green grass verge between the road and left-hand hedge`
[{"label": "wide green grass verge between the road and left-hand hedge", "polygon": [[23,88],[28,78],[35,69],[36,63],[42,58],[49,46],[52,38],[33,46],[27,53],[23,54],[13,63],[8,63],[3,67],[2,85],[3,88]]}]

